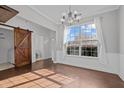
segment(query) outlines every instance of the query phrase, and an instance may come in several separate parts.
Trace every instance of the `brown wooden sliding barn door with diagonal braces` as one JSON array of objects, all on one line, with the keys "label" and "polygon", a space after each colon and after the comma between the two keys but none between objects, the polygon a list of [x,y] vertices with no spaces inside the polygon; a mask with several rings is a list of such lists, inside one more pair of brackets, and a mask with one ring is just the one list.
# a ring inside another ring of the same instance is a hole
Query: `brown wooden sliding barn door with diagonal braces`
[{"label": "brown wooden sliding barn door with diagonal braces", "polygon": [[21,67],[31,64],[31,32],[14,29],[15,66]]}]

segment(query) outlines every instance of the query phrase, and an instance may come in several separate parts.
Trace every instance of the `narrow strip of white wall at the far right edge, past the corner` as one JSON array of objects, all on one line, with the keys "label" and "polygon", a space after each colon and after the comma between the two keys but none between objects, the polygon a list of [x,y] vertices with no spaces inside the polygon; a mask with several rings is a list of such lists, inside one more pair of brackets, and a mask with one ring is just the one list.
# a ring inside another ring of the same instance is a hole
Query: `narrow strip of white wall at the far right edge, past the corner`
[{"label": "narrow strip of white wall at the far right edge, past the corner", "polygon": [[124,6],[120,7],[120,77],[124,80]]}]

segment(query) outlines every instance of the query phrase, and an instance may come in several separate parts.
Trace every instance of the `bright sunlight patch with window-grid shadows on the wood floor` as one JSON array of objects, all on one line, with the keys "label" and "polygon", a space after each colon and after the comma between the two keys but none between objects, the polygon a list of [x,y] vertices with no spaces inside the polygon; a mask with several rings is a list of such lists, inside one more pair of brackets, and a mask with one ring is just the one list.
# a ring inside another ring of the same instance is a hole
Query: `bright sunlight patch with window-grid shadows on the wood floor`
[{"label": "bright sunlight patch with window-grid shadows on the wood floor", "polygon": [[48,69],[40,69],[0,81],[1,88],[60,88],[73,79],[56,74]]}]

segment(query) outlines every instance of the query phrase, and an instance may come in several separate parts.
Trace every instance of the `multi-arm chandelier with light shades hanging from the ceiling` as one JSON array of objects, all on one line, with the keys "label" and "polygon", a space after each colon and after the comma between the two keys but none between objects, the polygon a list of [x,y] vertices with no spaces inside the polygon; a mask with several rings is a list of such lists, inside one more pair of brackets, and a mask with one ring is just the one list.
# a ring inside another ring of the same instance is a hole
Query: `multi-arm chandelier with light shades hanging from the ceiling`
[{"label": "multi-arm chandelier with light shades hanging from the ceiling", "polygon": [[76,10],[72,11],[71,6],[69,6],[68,13],[63,13],[61,17],[61,23],[64,25],[72,25],[79,23],[81,19],[81,13],[78,13]]}]

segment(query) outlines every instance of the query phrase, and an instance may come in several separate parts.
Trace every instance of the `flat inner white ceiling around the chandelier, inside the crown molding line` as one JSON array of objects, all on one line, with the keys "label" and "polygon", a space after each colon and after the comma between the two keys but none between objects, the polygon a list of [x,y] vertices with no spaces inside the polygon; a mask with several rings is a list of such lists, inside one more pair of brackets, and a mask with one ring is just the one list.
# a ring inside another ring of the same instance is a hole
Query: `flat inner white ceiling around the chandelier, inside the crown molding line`
[{"label": "flat inner white ceiling around the chandelier, inside the crown molding line", "polygon": [[[63,12],[68,12],[69,5],[30,5],[30,8],[59,24]],[[72,5],[71,9],[82,13],[82,17],[100,14],[117,9],[117,5]]]}]

